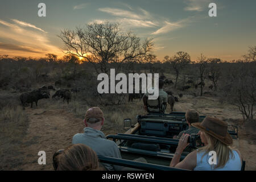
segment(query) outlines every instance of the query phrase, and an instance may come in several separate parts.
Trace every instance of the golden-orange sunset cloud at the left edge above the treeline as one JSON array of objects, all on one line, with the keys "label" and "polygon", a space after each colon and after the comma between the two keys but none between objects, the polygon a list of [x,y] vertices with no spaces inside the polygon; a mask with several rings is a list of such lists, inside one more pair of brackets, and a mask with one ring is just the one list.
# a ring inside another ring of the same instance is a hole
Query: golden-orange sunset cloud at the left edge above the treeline
[{"label": "golden-orange sunset cloud at the left edge above the treeline", "polygon": [[46,53],[53,52],[56,55],[63,55],[59,47],[51,44],[47,36],[48,34],[45,34],[43,31],[38,31],[37,28],[31,29],[28,27],[30,26],[24,26],[20,23],[5,22],[0,19],[0,39],[2,40],[0,50],[2,54],[39,57]]}]

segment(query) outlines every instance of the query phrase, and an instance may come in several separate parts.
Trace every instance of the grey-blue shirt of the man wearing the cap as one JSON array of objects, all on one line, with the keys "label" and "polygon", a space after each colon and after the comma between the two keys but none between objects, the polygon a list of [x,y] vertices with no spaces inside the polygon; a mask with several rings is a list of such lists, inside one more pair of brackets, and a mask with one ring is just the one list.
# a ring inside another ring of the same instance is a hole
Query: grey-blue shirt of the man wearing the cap
[{"label": "grey-blue shirt of the man wearing the cap", "polygon": [[[97,155],[109,156],[112,158],[122,158],[117,144],[112,140],[106,139],[104,133],[100,130],[94,130],[90,127],[84,128],[84,133],[74,135],[72,144],[82,143],[89,146]],[[119,166],[102,163],[107,170],[121,170]]]}]

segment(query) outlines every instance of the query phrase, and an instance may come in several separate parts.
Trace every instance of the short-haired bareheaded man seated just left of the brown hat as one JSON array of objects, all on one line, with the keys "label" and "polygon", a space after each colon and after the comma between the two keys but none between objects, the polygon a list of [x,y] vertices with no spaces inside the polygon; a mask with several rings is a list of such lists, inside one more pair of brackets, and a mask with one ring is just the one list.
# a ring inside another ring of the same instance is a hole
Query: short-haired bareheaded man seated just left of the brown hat
[{"label": "short-haired bareheaded man seated just left of the brown hat", "polygon": [[179,135],[175,135],[173,138],[174,139],[179,139],[183,134],[197,134],[199,133],[199,129],[197,129],[196,127],[193,127],[191,124],[192,123],[196,123],[196,122],[199,122],[199,113],[197,113],[196,110],[192,110],[192,109],[189,109],[186,114],[185,114],[185,117],[186,117],[186,120],[187,120],[187,123],[188,123],[188,129],[187,130],[184,130],[184,131],[181,131],[179,133]]}]

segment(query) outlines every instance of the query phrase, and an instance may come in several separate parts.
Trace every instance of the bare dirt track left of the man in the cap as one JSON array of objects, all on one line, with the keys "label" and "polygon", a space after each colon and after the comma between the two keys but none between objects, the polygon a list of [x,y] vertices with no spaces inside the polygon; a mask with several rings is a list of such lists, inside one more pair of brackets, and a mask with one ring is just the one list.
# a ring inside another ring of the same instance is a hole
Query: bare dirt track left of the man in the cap
[{"label": "bare dirt track left of the man in the cap", "polygon": [[[53,170],[52,155],[69,146],[72,137],[81,133],[82,119],[66,110],[26,109],[30,125],[23,139],[23,164],[19,170]],[[38,164],[38,152],[46,152],[46,165]]]}]

